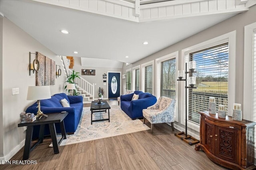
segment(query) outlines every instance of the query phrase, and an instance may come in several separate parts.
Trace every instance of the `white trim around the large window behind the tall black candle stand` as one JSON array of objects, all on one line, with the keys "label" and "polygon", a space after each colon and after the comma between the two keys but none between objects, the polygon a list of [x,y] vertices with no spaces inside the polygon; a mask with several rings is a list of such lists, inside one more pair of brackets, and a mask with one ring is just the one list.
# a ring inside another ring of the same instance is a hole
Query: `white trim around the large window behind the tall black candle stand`
[{"label": "white trim around the large window behind the tall black candle stand", "polygon": [[[181,50],[181,70],[184,70],[185,67],[185,58],[189,56],[190,53],[200,51],[203,49],[207,49],[209,47],[214,47],[216,45],[220,45],[222,43],[227,43],[229,45],[229,54],[228,54],[228,115],[232,116],[232,109],[233,109],[233,103],[235,103],[235,76],[236,76],[236,31],[229,32],[227,34],[224,34],[222,36],[218,36],[216,38],[213,38],[211,40],[193,45],[191,47],[188,47],[186,49]],[[183,81],[180,81],[181,87],[181,116],[180,116],[180,123],[182,125],[185,125],[185,83]],[[195,124],[193,122],[187,121],[187,125],[189,128],[192,128],[196,130],[197,132],[200,131],[200,126],[198,124]]]}]

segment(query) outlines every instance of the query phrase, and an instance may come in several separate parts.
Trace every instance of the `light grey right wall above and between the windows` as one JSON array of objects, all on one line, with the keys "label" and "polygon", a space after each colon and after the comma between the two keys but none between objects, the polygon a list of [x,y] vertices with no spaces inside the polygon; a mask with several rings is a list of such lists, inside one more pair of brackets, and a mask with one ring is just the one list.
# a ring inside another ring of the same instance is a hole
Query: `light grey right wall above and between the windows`
[{"label": "light grey right wall above and between the windows", "polygon": [[[227,20],[224,20],[223,22],[220,22],[219,24],[216,24],[198,34],[195,34],[194,36],[191,36],[189,38],[186,38],[185,40],[182,40],[174,45],[171,45],[165,49],[162,49],[161,51],[158,51],[157,53],[154,53],[140,61],[137,61],[136,63],[133,63],[131,65],[126,66],[124,64],[124,67],[122,69],[122,72],[125,73],[127,69],[130,69],[132,67],[135,67],[137,65],[146,63],[148,61],[152,61],[154,59],[157,59],[159,57],[162,57],[164,55],[168,55],[170,53],[173,53],[175,51],[179,51],[179,69],[181,70],[181,50],[185,49],[187,47],[191,47],[192,45],[196,45],[201,42],[205,42],[207,40],[210,40],[212,38],[216,38],[218,36],[224,35],[226,33],[232,32],[236,30],[236,73],[235,73],[235,79],[236,79],[236,87],[235,87],[235,102],[236,103],[243,103],[243,95],[244,95],[244,26],[248,24],[252,24],[256,22],[256,5],[249,8],[249,11],[246,11],[244,13],[237,14],[236,16],[233,16],[232,18],[229,18]],[[156,77],[154,77],[156,79]],[[179,87],[181,88],[181,87]],[[122,89],[125,89],[125,82],[122,82]],[[178,99],[183,99],[183,96],[181,96],[181,90],[178,91]],[[179,119],[181,113],[181,106],[180,101],[177,103],[179,105],[178,114]],[[243,109],[243,108],[242,108]],[[244,113],[248,114],[248,113]],[[249,113],[251,114],[251,113]],[[177,126],[180,126],[184,128],[183,125],[179,123],[175,123]],[[184,130],[184,129],[181,129]],[[190,132],[199,135],[199,132],[194,131],[192,129],[188,129]]]}]

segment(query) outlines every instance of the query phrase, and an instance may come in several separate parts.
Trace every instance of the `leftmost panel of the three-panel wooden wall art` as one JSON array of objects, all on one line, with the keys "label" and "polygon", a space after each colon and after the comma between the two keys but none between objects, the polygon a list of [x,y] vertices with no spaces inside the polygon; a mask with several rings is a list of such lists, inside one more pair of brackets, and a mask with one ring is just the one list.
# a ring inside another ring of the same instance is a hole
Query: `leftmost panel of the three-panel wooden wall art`
[{"label": "leftmost panel of the three-panel wooden wall art", "polygon": [[36,86],[45,85],[45,56],[36,52],[36,59],[39,61],[39,70],[36,71]]}]

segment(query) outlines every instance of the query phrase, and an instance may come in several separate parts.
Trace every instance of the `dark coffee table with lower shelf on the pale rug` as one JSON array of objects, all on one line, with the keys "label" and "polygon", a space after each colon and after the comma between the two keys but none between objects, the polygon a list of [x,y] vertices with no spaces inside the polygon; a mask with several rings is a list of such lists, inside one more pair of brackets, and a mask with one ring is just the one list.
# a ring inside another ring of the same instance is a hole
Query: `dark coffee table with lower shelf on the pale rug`
[{"label": "dark coffee table with lower shelf on the pale rug", "polygon": [[[98,121],[108,121],[110,122],[110,119],[109,119],[109,109],[110,109],[110,106],[108,105],[108,102],[103,100],[102,101],[102,105],[98,104],[97,101],[92,101],[91,103],[91,125],[93,122],[98,122]],[[102,113],[102,112],[105,112],[107,113],[107,109],[108,109],[108,119],[97,119],[97,120],[92,120],[92,114],[93,113],[96,113],[96,112],[99,112],[99,113]]]}]

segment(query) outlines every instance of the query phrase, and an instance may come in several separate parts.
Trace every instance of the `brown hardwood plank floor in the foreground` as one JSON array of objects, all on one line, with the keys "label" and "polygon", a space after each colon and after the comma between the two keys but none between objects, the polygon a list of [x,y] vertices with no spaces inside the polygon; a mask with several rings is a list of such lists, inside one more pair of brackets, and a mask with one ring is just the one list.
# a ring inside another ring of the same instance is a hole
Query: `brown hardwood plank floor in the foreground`
[{"label": "brown hardwood plank floor in the foreground", "polygon": [[[146,122],[150,127],[150,124]],[[156,124],[150,130],[60,146],[54,154],[48,147],[51,140],[44,140],[31,153],[29,160],[37,164],[0,165],[10,170],[222,170],[211,162],[203,151],[195,151],[176,136],[167,124]],[[11,158],[22,160],[23,148]]]}]

